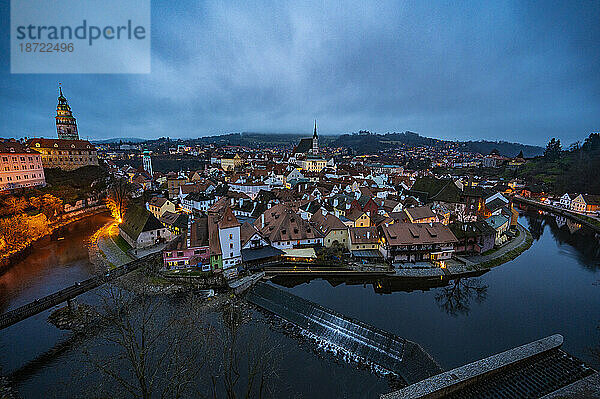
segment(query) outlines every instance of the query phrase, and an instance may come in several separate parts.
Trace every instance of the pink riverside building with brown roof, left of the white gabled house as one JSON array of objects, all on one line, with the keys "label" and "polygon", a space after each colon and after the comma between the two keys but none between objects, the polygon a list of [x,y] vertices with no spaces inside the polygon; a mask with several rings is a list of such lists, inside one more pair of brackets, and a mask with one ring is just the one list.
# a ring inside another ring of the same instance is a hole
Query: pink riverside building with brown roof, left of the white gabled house
[{"label": "pink riverside building with brown roof, left of the white gabled house", "polygon": [[208,218],[206,216],[188,219],[188,228],[179,238],[177,247],[163,251],[165,269],[187,269],[200,267],[210,271],[210,253],[208,248]]}]

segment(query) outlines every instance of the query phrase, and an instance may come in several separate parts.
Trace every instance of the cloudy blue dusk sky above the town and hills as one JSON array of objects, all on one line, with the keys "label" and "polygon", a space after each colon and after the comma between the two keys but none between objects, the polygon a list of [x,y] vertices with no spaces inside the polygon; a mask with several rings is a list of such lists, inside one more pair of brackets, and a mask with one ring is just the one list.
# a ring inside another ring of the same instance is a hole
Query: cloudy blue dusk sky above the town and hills
[{"label": "cloudy blue dusk sky above the town and hills", "polygon": [[[302,3],[302,4],[298,4]],[[10,74],[2,137],[410,130],[569,144],[600,131],[600,2],[152,2],[152,73]]]}]

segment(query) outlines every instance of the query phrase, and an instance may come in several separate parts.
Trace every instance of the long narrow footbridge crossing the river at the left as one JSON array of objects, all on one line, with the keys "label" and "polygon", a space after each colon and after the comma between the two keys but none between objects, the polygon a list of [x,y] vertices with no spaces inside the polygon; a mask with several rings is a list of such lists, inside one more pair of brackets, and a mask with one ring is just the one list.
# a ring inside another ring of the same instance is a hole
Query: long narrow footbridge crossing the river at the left
[{"label": "long narrow footbridge crossing the river at the left", "polygon": [[156,254],[146,255],[142,258],[134,260],[133,262],[127,263],[119,267],[115,267],[114,269],[111,269],[104,275],[94,276],[87,280],[75,283],[53,294],[36,299],[34,302],[30,302],[19,308],[3,313],[2,315],[0,315],[0,330],[12,326],[13,324],[23,321],[31,316],[41,313],[44,310],[50,309],[63,302],[69,302],[73,298],[88,291],[91,291],[94,288],[103,285],[104,283],[107,283],[127,273],[130,273],[147,263],[155,255]]}]

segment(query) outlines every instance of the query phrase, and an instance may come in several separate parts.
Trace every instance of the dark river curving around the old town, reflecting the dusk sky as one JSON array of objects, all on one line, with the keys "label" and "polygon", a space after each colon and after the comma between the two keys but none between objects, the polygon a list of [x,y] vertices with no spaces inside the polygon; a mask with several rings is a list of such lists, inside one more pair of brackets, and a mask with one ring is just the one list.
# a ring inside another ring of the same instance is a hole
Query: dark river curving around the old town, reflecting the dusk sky
[{"label": "dark river curving around the old town, reflecting the dusk sky", "polygon": [[[93,273],[85,242],[105,223],[101,216],[69,226],[39,242],[0,276],[3,311],[60,289]],[[560,217],[527,212],[520,222],[534,237],[517,259],[478,278],[445,287],[394,288],[383,283],[283,281],[284,289],[422,345],[445,368],[560,333],[564,348],[600,366],[591,349],[600,345],[600,241],[597,234]],[[395,289],[399,289],[395,291]],[[390,292],[383,294],[381,292]],[[82,298],[92,301],[93,298]],[[173,306],[177,306],[174,304]],[[68,337],[46,322],[48,312],[0,333],[4,373],[28,364]],[[279,332],[270,339],[284,350],[278,396],[375,397],[389,390],[385,379],[314,353]],[[43,364],[16,388],[39,397],[69,373],[71,348]],[[58,395],[60,396],[60,395]]]}]

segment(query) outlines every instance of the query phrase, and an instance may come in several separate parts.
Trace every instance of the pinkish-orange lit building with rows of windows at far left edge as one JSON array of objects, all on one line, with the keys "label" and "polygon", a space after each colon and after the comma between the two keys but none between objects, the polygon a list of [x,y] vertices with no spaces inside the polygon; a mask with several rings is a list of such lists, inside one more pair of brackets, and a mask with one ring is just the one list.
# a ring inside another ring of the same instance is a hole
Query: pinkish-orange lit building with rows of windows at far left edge
[{"label": "pinkish-orange lit building with rows of windows at far left edge", "polygon": [[0,191],[45,185],[42,156],[15,139],[0,139]]}]

